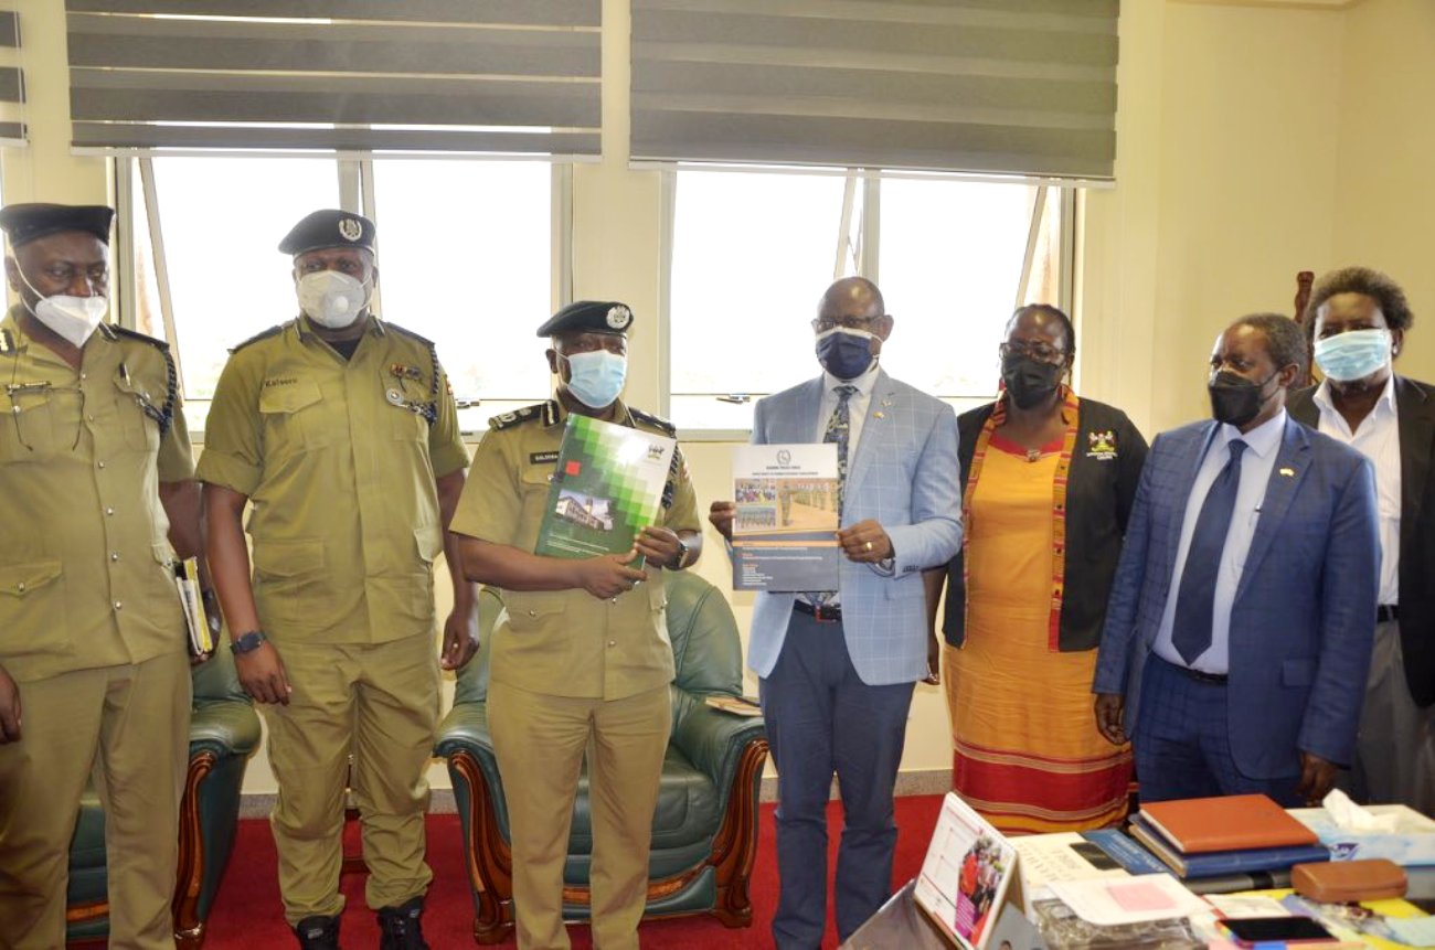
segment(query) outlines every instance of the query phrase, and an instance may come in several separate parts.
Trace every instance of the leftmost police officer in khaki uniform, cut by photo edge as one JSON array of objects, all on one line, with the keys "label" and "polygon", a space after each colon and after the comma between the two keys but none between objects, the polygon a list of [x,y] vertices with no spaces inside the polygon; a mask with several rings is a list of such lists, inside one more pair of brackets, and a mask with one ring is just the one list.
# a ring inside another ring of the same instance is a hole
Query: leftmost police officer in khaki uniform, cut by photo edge
[{"label": "leftmost police officer in khaki uniform, cut by photo edge", "polygon": [[0,947],[65,943],[75,817],[105,808],[112,946],[174,947],[189,743],[172,565],[199,489],[164,343],[100,323],[105,207],[10,205],[0,320]]}]

